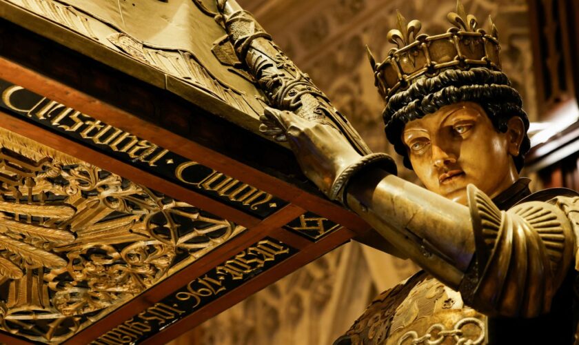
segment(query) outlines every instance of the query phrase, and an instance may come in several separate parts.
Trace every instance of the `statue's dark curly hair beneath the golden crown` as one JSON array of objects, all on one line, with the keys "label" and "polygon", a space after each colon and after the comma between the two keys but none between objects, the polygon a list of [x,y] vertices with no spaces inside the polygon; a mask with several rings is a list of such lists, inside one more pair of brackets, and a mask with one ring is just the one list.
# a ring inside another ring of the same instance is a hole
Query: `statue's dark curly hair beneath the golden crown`
[{"label": "statue's dark curly hair beneath the golden crown", "polygon": [[511,117],[518,116],[522,119],[525,124],[525,138],[522,140],[519,155],[514,157],[515,166],[520,171],[531,146],[526,134],[529,129],[527,113],[522,110],[520,95],[511,87],[507,75],[482,67],[443,70],[434,77],[418,79],[405,90],[390,97],[383,112],[386,137],[394,145],[396,152],[404,157],[404,166],[412,169],[407,148],[401,139],[407,122],[421,119],[443,106],[460,101],[478,103],[499,132],[507,132],[507,121]]}]

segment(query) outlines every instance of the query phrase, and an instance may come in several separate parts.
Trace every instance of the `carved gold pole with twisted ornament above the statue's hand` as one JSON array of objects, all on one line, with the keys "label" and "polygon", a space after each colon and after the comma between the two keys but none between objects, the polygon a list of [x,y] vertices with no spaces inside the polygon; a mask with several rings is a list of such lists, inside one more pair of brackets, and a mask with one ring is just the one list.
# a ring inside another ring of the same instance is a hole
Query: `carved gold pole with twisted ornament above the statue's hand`
[{"label": "carved gold pole with twisted ornament above the statue's hand", "polygon": [[[217,7],[221,14],[218,20],[227,30],[238,59],[245,61],[270,106],[290,110],[305,119],[327,122],[338,128],[360,154],[372,152],[347,119],[276,46],[250,12],[234,0],[218,0]],[[276,139],[283,140],[283,135]]]}]

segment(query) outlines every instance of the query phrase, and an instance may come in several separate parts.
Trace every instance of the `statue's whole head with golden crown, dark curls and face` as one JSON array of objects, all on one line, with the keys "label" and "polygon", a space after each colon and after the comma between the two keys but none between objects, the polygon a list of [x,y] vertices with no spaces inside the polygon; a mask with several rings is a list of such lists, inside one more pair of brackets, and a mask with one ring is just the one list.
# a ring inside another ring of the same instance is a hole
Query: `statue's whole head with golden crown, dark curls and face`
[{"label": "statue's whole head with golden crown, dark curls and face", "polygon": [[529,120],[501,71],[492,21],[478,28],[460,1],[447,18],[447,32],[428,35],[398,13],[387,37],[397,47],[382,63],[368,57],[387,139],[426,188],[464,204],[468,184],[496,196],[518,179]]}]

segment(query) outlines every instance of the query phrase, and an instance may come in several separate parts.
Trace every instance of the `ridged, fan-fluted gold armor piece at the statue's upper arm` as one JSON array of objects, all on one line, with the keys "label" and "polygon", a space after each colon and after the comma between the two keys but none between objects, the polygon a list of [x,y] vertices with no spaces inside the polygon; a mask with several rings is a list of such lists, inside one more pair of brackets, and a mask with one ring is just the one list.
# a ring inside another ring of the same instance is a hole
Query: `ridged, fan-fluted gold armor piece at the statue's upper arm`
[{"label": "ridged, fan-fluted gold armor piece at the statue's upper arm", "polygon": [[547,313],[575,251],[569,212],[579,211],[579,197],[524,201],[505,212],[476,187],[468,193],[476,264],[460,288],[465,302],[489,315]]}]

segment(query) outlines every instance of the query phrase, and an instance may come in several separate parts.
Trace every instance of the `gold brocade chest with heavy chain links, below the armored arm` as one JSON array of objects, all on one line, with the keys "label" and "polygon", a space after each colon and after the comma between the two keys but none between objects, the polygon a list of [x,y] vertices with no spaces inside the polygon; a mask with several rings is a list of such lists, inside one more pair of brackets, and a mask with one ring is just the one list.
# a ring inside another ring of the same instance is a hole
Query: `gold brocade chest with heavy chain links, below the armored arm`
[{"label": "gold brocade chest with heavy chain links, below the armored arm", "polygon": [[343,338],[356,345],[488,344],[487,317],[422,272],[376,297]]}]

